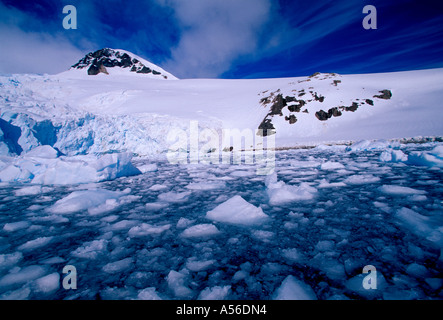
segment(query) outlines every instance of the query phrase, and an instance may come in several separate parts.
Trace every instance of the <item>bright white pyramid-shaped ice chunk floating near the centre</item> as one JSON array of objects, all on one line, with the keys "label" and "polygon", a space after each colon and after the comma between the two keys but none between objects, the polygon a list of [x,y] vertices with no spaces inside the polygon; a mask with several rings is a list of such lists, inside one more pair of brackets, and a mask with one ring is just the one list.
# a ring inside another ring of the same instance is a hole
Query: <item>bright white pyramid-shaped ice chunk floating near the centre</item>
[{"label": "bright white pyramid-shaped ice chunk floating near the centre", "polygon": [[257,225],[263,223],[269,217],[263,213],[261,208],[236,195],[208,211],[206,218],[231,224]]}]

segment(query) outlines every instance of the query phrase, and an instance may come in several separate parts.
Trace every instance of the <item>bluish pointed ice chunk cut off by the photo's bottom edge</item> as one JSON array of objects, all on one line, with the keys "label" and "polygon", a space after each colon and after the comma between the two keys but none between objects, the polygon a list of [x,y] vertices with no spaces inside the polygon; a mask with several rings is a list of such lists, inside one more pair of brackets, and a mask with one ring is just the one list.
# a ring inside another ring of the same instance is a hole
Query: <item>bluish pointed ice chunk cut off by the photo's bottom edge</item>
[{"label": "bluish pointed ice chunk cut off by the photo's bottom edge", "polygon": [[292,275],[283,280],[273,298],[274,300],[317,300],[312,288]]}]

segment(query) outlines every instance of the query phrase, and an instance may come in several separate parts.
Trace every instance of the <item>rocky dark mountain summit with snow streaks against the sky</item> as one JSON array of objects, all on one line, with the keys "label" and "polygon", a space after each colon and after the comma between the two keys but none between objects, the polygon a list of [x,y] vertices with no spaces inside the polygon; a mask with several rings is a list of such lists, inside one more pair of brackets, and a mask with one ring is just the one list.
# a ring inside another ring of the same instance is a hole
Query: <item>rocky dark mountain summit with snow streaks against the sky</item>
[{"label": "rocky dark mountain summit with snow streaks against the sky", "polygon": [[158,79],[177,79],[159,66],[121,49],[103,48],[90,52],[74,64],[71,69],[87,69],[88,75],[92,76],[99,73],[116,73],[115,71],[118,70],[124,73],[149,75]]}]

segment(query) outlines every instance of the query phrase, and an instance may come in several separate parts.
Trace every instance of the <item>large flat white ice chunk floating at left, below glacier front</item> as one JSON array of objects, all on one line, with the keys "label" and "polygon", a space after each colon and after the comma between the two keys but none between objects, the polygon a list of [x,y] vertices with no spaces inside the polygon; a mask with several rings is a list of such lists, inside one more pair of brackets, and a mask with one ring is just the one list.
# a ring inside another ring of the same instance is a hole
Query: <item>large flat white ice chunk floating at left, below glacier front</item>
[{"label": "large flat white ice chunk floating at left, below glacier front", "polygon": [[[123,192],[105,189],[74,191],[63,199],[58,200],[47,211],[50,213],[73,213],[97,208],[103,204],[107,205],[108,209],[109,207],[115,208],[116,202],[114,201],[117,201],[123,195]],[[101,209],[104,208],[101,207]]]}]

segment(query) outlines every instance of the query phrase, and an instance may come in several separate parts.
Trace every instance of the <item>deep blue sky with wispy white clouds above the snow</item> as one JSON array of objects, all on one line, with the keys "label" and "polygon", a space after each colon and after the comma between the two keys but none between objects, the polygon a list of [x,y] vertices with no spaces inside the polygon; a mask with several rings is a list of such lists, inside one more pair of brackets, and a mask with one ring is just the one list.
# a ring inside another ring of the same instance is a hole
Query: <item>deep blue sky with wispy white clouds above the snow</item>
[{"label": "deep blue sky with wispy white clouds above the snow", "polygon": [[[62,26],[65,5],[77,29]],[[365,5],[377,29],[365,30]],[[179,78],[443,67],[443,3],[408,0],[0,0],[0,73],[58,73],[103,47]]]}]

